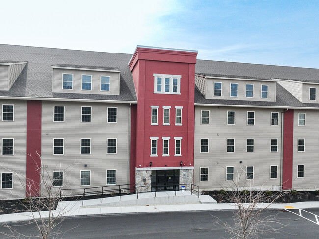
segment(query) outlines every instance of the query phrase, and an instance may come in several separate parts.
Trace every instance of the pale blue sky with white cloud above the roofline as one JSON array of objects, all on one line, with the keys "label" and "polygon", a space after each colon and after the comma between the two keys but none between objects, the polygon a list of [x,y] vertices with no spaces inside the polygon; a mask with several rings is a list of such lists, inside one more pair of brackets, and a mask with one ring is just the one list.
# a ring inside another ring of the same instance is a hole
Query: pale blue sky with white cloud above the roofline
[{"label": "pale blue sky with white cloud above the roofline", "polygon": [[[6,0],[0,43],[319,68],[319,0]],[[1,53],[0,53],[1,58]]]}]

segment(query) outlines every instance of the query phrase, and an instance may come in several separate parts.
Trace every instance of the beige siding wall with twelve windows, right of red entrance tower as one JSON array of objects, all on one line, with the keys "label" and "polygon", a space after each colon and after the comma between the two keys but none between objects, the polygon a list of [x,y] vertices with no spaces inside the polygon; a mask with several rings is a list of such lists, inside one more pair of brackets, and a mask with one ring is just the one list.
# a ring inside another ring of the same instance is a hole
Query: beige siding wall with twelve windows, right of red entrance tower
[{"label": "beige siding wall with twelve windows, right of red entrance tower", "polygon": [[[201,110],[210,110],[210,124],[201,124]],[[235,111],[235,125],[227,125],[227,111]],[[255,125],[247,125],[247,111],[255,112]],[[271,112],[278,112],[277,126]],[[201,138],[209,139],[209,153],[200,153]],[[201,189],[232,186],[226,167],[234,166],[235,180],[241,175],[247,187],[275,190],[280,185],[281,112],[273,109],[195,106],[194,184]],[[226,153],[227,139],[235,139],[235,152]],[[247,139],[254,139],[254,152],[246,152]],[[278,139],[278,152],[270,152],[270,139]],[[242,161],[242,163],[240,163]],[[270,179],[270,165],[277,165],[277,179]],[[246,181],[246,166],[254,166],[254,180]],[[200,182],[200,167],[208,167],[207,182]],[[243,186],[243,184],[241,184]]]}]

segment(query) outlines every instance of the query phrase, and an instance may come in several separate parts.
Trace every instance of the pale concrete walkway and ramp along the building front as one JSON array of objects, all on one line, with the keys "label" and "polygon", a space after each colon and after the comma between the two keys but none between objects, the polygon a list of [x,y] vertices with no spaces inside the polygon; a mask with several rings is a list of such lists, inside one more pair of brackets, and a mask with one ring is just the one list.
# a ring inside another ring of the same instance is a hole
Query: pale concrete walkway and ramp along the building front
[{"label": "pale concrete walkway and ramp along the building front", "polygon": [[[63,201],[59,202],[57,209],[53,212],[54,216],[83,216],[83,215],[112,215],[112,214],[131,214],[131,213],[154,213],[154,212],[192,212],[192,211],[214,211],[214,210],[233,210],[234,204],[216,203],[208,195],[190,195],[190,192],[160,192],[155,198],[154,193],[143,193],[139,198],[136,195],[122,196],[121,201],[118,197],[82,201]],[[143,196],[141,196],[143,195]],[[192,200],[191,200],[192,198]],[[178,199],[178,200],[177,200]],[[258,208],[265,208],[266,203],[260,203]],[[319,202],[299,202],[299,203],[274,203],[270,209],[286,208],[318,208]],[[40,212],[41,217],[47,217],[48,211]],[[40,218],[38,212],[22,212],[14,214],[0,215],[0,223],[32,220]]]}]

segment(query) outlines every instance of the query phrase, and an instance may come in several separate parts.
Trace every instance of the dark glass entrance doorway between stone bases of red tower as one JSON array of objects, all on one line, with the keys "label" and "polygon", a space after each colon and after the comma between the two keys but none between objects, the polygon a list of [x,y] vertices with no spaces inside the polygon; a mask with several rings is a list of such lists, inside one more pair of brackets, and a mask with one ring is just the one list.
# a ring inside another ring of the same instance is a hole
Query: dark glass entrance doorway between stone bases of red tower
[{"label": "dark glass entrance doorway between stone bases of red tower", "polygon": [[179,189],[180,170],[153,170],[152,191],[172,191]]}]

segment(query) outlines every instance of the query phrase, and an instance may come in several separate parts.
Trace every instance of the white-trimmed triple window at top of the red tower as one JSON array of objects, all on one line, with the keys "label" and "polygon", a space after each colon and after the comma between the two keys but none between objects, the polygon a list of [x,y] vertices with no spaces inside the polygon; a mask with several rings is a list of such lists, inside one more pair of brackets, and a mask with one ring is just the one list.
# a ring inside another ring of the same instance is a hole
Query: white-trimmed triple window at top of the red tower
[{"label": "white-trimmed triple window at top of the red tower", "polygon": [[181,94],[181,75],[153,74],[154,93]]}]

